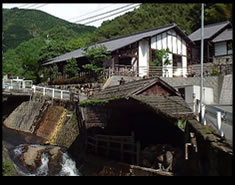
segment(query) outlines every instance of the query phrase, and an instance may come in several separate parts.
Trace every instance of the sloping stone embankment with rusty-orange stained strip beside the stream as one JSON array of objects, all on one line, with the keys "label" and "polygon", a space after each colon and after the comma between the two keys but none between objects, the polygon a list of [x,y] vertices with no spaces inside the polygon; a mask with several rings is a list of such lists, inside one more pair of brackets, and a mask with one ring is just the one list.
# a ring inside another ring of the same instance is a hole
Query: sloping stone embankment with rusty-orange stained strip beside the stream
[{"label": "sloping stone embankment with rusty-orange stained strip beside the stream", "polygon": [[3,124],[7,128],[44,138],[45,144],[68,148],[79,132],[75,112],[74,102],[70,101],[26,101]]}]

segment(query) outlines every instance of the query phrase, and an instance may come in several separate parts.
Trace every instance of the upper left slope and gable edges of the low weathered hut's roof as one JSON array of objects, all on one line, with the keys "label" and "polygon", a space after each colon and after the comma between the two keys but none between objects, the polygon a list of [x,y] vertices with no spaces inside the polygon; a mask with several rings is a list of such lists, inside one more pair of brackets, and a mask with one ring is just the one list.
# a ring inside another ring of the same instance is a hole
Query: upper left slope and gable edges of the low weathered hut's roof
[{"label": "upper left slope and gable edges of the low weathered hut's roof", "polygon": [[148,89],[152,85],[160,82],[165,87],[167,87],[174,95],[180,95],[178,91],[176,91],[173,87],[168,85],[166,82],[162,81],[160,78],[147,78],[136,80],[132,82],[125,83],[123,85],[115,85],[111,87],[107,87],[104,90],[96,93],[92,99],[110,99],[113,97],[129,97],[132,95],[138,95],[144,90]]}]

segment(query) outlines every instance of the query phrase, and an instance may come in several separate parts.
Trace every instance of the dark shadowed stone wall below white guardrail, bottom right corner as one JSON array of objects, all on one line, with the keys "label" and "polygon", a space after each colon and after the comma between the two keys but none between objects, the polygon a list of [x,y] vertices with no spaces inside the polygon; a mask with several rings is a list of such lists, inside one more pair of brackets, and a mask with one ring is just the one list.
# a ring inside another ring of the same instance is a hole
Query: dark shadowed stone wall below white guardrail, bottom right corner
[{"label": "dark shadowed stone wall below white guardrail, bottom right corner", "polygon": [[195,169],[195,175],[231,176],[233,149],[209,126],[203,126],[196,120],[186,124],[186,142],[189,133],[195,133],[197,152],[189,153],[188,165]]}]

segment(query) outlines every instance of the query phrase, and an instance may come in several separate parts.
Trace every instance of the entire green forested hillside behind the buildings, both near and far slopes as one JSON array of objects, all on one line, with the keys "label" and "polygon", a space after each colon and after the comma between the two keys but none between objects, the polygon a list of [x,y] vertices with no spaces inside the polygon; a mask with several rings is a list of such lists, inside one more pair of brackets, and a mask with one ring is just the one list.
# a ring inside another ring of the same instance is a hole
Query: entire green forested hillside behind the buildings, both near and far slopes
[{"label": "entire green forested hillside behind the buildings, both near and far slopes", "polygon": [[[41,63],[96,41],[176,23],[186,34],[200,27],[201,4],[143,3],[95,29],[38,10],[3,10],[3,72],[42,79]],[[206,4],[205,24],[232,21],[232,4]],[[12,48],[12,49],[11,49]]]}]

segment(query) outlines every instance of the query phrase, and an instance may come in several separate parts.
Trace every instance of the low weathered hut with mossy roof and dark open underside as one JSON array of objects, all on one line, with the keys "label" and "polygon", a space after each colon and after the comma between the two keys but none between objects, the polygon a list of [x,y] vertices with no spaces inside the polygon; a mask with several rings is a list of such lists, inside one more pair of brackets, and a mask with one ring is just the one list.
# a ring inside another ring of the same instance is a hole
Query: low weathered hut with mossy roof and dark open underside
[{"label": "low weathered hut with mossy roof and dark open underside", "polygon": [[180,93],[160,78],[107,87],[89,101],[100,101],[101,105],[91,103],[86,108],[86,128],[99,126],[103,128],[101,134],[107,135],[128,136],[134,132],[141,146],[183,145],[178,120],[193,117]]}]

